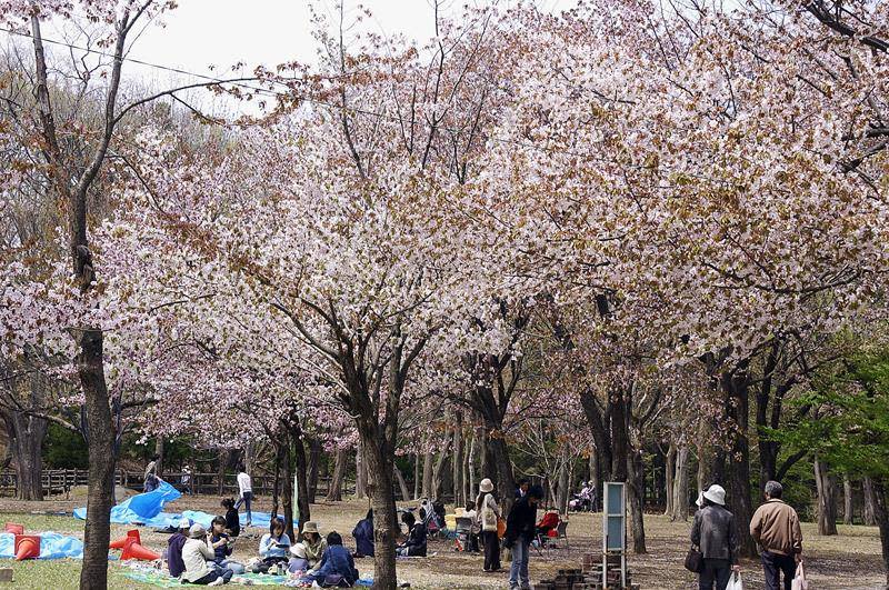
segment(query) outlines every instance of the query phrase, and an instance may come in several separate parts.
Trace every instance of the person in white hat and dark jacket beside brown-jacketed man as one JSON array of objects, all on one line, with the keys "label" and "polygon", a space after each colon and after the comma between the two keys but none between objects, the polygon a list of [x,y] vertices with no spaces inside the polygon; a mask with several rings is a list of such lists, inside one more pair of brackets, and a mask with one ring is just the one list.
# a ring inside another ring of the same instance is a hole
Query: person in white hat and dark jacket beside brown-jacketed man
[{"label": "person in white hat and dark jacket beside brown-jacketed man", "polygon": [[738,566],[738,536],[735,514],[726,510],[726,490],[716,483],[703,492],[701,509],[695,513],[691,526],[691,543],[699,547],[703,556],[703,569],[699,576],[700,590],[725,590],[731,572]]}]

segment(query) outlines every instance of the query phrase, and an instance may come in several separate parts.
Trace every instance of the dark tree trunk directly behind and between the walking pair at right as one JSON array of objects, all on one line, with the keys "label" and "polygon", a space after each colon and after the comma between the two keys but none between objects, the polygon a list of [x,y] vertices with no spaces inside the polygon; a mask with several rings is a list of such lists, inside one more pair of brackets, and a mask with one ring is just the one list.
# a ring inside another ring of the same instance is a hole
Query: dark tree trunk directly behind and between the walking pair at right
[{"label": "dark tree trunk directly behind and between the walking pair at right", "polygon": [[[730,452],[720,452],[715,474],[723,478],[727,493],[726,503],[735,514],[738,529],[738,544],[743,557],[757,554],[756,542],[750,536],[750,519],[753,507],[750,498],[750,449],[748,446],[749,380],[747,363],[742,362],[735,371],[722,373],[720,383],[726,394],[726,422],[737,429],[731,437]],[[719,479],[717,480],[719,481]]]}]

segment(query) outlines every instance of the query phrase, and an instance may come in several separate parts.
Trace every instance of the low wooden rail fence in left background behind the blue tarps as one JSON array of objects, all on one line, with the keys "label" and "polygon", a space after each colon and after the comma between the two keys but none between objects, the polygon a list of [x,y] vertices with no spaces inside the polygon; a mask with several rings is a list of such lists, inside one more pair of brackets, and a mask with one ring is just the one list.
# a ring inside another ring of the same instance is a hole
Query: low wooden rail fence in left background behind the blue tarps
[{"label": "low wooden rail fence in left background behind the blue tarps", "polygon": [[[131,490],[142,491],[144,473],[139,471],[118,470],[114,483]],[[220,480],[219,473],[180,473],[164,472],[162,479],[176,489],[186,493],[200,493],[208,496],[237,496],[237,476],[226,473]],[[274,486],[273,476],[252,476],[251,483],[254,496],[271,496]],[[71,488],[87,484],[86,469],[44,469],[42,473],[43,494],[62,494],[68,497]],[[330,478],[319,478],[317,496],[327,494]],[[343,482],[343,491],[344,491]],[[18,490],[18,476],[16,471],[0,471],[0,497],[14,497]]]}]

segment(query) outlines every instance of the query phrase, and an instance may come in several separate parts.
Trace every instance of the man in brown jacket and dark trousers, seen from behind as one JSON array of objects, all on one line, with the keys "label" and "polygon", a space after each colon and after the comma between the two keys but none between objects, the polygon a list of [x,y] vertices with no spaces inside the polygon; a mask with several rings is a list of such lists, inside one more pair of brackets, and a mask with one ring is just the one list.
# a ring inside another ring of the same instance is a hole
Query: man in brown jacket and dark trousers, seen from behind
[{"label": "man in brown jacket and dark trousers, seen from behind", "polygon": [[797,563],[802,561],[802,531],[797,511],[781,501],[783,488],[777,481],[766,483],[766,503],[750,521],[750,534],[762,548],[766,590],[780,590],[783,572],[785,590],[790,590]]}]

